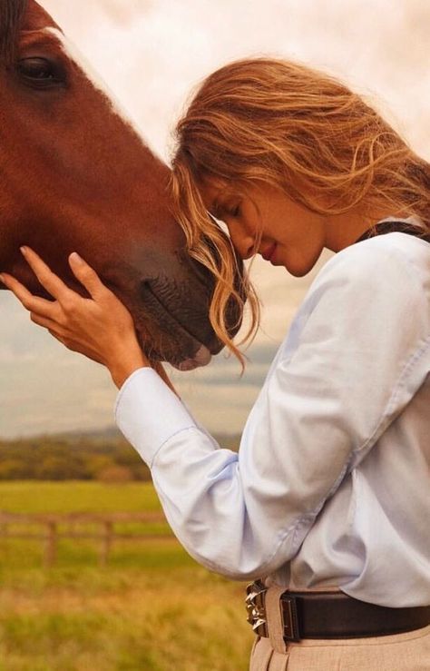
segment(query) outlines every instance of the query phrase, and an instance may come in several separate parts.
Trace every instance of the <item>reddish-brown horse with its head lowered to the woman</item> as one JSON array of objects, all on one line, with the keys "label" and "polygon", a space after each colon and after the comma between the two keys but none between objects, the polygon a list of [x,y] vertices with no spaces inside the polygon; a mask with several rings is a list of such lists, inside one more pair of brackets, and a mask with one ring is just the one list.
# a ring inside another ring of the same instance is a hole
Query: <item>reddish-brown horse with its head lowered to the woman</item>
[{"label": "reddish-brown horse with its head lowered to the woman", "polygon": [[[85,295],[67,263],[76,251],[131,311],[151,360],[191,370],[222,349],[214,280],[171,213],[169,167],[35,0],[0,0],[0,173],[0,271],[47,297],[25,244]],[[228,324],[236,333],[234,306]]]}]

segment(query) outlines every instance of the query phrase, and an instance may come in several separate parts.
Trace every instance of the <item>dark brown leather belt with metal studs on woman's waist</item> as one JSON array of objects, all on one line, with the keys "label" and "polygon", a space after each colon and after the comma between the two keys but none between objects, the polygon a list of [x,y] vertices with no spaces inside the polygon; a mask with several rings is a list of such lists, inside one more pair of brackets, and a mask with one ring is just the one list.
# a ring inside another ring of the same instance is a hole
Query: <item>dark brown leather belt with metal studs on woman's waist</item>
[{"label": "dark brown leather belt with metal studs on woman's waist", "polygon": [[[248,621],[258,636],[269,636],[265,595],[257,580],[247,588]],[[388,608],[368,604],[343,592],[284,592],[280,597],[284,639],[366,638],[389,636],[430,624],[430,606]]]}]

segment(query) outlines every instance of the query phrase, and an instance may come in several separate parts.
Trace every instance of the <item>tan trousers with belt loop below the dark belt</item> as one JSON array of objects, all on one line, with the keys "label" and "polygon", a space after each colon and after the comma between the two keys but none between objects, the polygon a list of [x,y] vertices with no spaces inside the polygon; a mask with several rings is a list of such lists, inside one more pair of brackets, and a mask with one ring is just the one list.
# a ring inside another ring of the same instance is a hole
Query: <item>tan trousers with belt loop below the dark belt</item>
[{"label": "tan trousers with belt loop below the dark belt", "polygon": [[279,596],[266,594],[269,638],[257,638],[249,671],[430,671],[430,626],[371,638],[304,639],[286,645],[279,617]]}]

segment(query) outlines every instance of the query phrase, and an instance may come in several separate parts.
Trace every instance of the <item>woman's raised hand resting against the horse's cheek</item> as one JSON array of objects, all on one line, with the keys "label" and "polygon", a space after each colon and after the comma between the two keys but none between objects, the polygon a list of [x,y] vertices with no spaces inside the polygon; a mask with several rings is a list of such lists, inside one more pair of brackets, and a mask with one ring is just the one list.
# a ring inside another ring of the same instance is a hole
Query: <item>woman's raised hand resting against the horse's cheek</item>
[{"label": "woman's raised hand resting against the horse's cheek", "polygon": [[[69,350],[106,366],[118,388],[134,370],[151,365],[136,338],[130,312],[78,254],[70,255],[69,264],[91,299],[69,289],[31,249],[23,247],[21,251],[37,279],[55,300],[34,296],[12,275],[3,273],[0,279],[30,311],[35,324],[44,326]],[[169,383],[161,365],[156,370]]]}]

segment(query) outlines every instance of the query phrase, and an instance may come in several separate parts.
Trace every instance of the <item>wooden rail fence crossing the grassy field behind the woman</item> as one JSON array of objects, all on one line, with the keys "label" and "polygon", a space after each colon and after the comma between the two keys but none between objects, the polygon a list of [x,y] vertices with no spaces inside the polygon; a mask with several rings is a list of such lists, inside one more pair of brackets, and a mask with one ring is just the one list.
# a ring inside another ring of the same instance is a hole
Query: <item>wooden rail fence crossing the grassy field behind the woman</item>
[{"label": "wooden rail fence crossing the grassy field behind the woman", "polygon": [[[160,512],[145,513],[73,513],[69,515],[23,515],[0,511],[0,540],[22,538],[44,543],[44,566],[52,567],[62,538],[93,539],[99,543],[99,563],[106,566],[112,543],[128,540],[171,540],[171,533],[148,534],[118,530],[117,525],[165,523]],[[95,531],[93,528],[95,527]],[[30,530],[29,530],[30,528]]]}]

